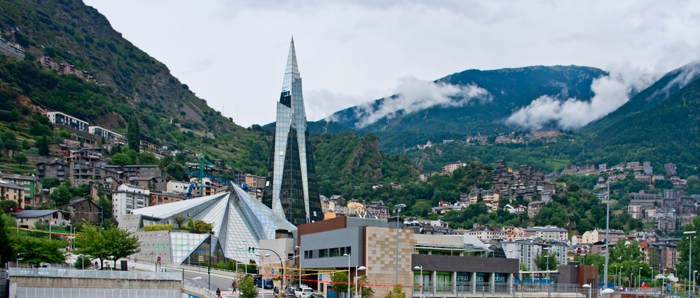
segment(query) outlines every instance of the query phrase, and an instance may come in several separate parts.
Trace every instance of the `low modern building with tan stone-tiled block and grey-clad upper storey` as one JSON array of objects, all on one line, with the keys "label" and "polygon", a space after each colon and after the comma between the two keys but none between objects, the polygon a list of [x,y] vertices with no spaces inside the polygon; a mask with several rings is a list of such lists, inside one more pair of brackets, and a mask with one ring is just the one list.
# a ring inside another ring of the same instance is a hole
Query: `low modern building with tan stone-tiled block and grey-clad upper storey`
[{"label": "low modern building with tan stone-tiled block and grey-clad upper storey", "polygon": [[395,222],[357,217],[298,226],[297,253],[304,283],[338,297],[327,287],[329,274],[322,272],[350,267],[350,280],[354,280],[355,268],[365,266],[357,275],[369,278],[375,297],[384,297],[396,283],[413,285],[415,295],[420,295],[422,285],[424,294],[434,297],[482,290],[503,296],[512,290],[517,259],[473,257],[484,255],[486,248],[471,243],[471,236],[420,234],[404,229],[403,224],[399,229],[394,226]]}]

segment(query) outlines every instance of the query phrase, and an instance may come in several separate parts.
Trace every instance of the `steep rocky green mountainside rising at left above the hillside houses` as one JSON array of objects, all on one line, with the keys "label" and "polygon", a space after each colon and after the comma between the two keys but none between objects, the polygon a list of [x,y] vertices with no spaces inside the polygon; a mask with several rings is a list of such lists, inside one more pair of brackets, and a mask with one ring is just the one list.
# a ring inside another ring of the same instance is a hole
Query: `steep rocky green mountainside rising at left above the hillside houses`
[{"label": "steep rocky green mountainside rising at left above the hillside houses", "polygon": [[[163,63],[123,39],[95,8],[80,0],[6,0],[0,6],[0,26],[2,37],[26,53],[23,61],[0,55],[0,131],[33,143],[50,135],[39,113],[46,110],[117,133],[125,133],[128,119],[135,116],[142,140],[174,142],[224,158],[240,170],[265,172],[266,133],[236,126],[208,107]],[[74,65],[95,81],[58,74],[43,67],[41,57]]]}]

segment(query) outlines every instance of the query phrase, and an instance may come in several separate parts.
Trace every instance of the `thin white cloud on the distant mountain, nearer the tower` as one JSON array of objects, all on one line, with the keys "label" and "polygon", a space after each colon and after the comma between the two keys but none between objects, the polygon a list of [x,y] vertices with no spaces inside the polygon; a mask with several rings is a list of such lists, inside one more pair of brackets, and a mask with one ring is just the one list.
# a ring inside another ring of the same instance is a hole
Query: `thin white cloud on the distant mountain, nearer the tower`
[{"label": "thin white cloud on the distant mountain, nearer the tower", "polygon": [[355,107],[355,114],[359,121],[357,128],[363,128],[375,123],[381,118],[394,118],[397,114],[409,114],[430,107],[462,107],[473,100],[488,101],[492,96],[486,89],[479,86],[457,86],[448,83],[434,83],[417,79],[415,76],[406,76],[399,79],[395,96],[385,96],[378,107],[374,102]]}]

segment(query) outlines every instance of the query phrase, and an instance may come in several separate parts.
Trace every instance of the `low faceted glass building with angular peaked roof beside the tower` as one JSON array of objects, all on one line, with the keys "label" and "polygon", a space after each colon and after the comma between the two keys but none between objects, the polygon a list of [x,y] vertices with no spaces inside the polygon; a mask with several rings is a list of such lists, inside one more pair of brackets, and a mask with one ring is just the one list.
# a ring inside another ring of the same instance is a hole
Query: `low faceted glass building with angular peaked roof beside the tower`
[{"label": "low faceted glass building with angular peaked roof beside the tower", "polygon": [[[261,239],[274,239],[278,229],[296,230],[294,224],[235,185],[231,192],[224,194],[140,208],[132,210],[132,214],[141,217],[140,231],[143,231],[142,226],[149,224],[175,224],[174,217],[179,216],[187,221],[202,219],[214,225],[213,235],[174,231],[167,237],[152,239],[153,243],[149,239],[140,239],[144,243],[142,250],[167,250],[172,259],[163,262],[174,264],[198,264],[210,262],[210,259],[218,262],[219,255],[238,262],[257,261],[258,257],[247,251],[249,246],[259,247]],[[160,232],[153,232],[154,235],[157,233]],[[148,237],[149,234],[142,236]],[[155,245],[155,241],[165,239],[168,243]]]}]

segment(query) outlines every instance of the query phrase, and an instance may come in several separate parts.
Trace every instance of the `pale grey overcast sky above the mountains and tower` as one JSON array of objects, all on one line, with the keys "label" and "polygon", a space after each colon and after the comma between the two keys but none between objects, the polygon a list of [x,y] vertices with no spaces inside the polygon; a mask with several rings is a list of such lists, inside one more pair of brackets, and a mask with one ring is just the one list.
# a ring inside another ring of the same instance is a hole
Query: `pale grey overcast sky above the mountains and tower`
[{"label": "pale grey overcast sky above the mountains and tower", "polygon": [[406,78],[530,65],[659,74],[700,59],[700,1],[85,3],[245,127],[275,121],[292,35],[310,121]]}]

